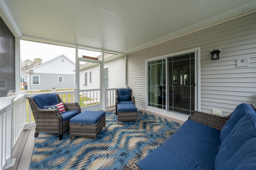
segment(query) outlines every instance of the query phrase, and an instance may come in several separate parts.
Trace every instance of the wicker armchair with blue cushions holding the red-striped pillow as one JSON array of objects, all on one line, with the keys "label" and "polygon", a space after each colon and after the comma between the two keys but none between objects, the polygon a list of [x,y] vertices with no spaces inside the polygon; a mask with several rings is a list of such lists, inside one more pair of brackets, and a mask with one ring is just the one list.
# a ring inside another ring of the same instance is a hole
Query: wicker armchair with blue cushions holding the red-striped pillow
[{"label": "wicker armchair with blue cushions holding the red-striped pillow", "polygon": [[[77,102],[63,102],[56,93],[40,94],[27,99],[36,122],[34,137],[38,137],[39,133],[58,133],[61,140],[63,133],[69,130],[70,118],[81,113]],[[60,113],[59,109],[44,109],[44,106],[61,102],[66,110],[64,113]]]}]

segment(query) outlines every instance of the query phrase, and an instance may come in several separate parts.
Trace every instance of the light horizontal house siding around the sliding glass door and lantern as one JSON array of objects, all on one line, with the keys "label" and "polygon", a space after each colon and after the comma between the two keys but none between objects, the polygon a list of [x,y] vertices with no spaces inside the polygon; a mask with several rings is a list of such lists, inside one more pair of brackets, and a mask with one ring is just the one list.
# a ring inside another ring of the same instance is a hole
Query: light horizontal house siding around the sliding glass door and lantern
[{"label": "light horizontal house siding around the sliding glass door and lantern", "polygon": [[[230,20],[127,55],[127,82],[136,106],[146,108],[146,59],[200,48],[201,111],[231,113],[244,102],[256,105],[256,13]],[[210,51],[221,49],[219,60]],[[236,67],[237,59],[249,66]]]}]

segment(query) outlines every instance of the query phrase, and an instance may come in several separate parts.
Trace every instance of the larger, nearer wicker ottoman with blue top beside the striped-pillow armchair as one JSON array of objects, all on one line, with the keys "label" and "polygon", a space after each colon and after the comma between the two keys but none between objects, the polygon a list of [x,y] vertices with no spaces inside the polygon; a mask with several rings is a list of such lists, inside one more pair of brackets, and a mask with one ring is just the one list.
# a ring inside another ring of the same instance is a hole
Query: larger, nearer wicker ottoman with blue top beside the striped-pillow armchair
[{"label": "larger, nearer wicker ottoman with blue top beside the striped-pillow armchair", "polygon": [[105,111],[84,111],[70,119],[70,139],[73,136],[93,137],[96,141],[103,126],[106,127]]}]

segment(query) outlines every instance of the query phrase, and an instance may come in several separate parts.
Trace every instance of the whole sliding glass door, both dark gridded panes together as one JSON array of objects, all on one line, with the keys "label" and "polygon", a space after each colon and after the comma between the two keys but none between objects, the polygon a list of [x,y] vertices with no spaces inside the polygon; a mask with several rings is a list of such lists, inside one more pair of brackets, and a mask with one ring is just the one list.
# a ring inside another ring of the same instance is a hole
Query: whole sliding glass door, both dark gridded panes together
[{"label": "whole sliding glass door, both dark gridded panes together", "polygon": [[196,107],[196,51],[148,61],[148,106],[191,115]]}]

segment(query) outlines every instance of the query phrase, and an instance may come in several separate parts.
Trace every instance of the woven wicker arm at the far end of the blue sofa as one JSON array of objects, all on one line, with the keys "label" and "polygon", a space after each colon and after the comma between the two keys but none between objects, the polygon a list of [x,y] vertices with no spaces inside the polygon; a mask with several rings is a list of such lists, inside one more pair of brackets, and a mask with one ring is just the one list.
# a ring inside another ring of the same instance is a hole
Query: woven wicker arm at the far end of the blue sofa
[{"label": "woven wicker arm at the far end of the blue sofa", "polygon": [[230,118],[231,114],[228,116],[220,116],[220,115],[214,115],[210,113],[204,113],[201,111],[194,111],[192,115],[188,117],[188,119],[192,121],[196,121],[203,125],[221,130],[224,124]]}]

